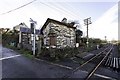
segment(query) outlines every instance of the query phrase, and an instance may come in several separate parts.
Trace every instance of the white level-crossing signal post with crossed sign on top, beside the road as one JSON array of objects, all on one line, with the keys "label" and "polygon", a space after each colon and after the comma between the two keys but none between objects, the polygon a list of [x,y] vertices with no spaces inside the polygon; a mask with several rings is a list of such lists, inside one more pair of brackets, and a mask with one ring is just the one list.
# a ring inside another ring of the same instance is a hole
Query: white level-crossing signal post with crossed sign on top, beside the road
[{"label": "white level-crossing signal post with crossed sign on top, beside the road", "polygon": [[30,22],[31,22],[31,33],[33,34],[32,51],[33,51],[33,55],[35,56],[35,36],[36,36],[35,25],[37,24],[37,22],[33,21],[31,18],[30,18]]}]

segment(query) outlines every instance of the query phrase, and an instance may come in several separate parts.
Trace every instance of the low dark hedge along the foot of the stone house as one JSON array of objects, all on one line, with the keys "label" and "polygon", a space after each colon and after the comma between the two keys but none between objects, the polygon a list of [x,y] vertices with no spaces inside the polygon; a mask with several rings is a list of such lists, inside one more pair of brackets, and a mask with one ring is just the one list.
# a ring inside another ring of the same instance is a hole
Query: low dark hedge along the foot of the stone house
[{"label": "low dark hedge along the foot of the stone house", "polygon": [[42,48],[40,56],[48,57],[49,59],[52,60],[62,60],[65,58],[71,58],[78,53],[79,51],[77,48],[60,48],[60,49]]}]

